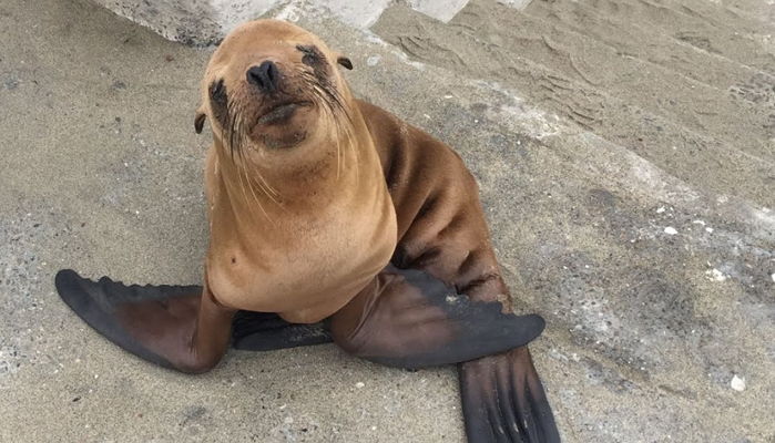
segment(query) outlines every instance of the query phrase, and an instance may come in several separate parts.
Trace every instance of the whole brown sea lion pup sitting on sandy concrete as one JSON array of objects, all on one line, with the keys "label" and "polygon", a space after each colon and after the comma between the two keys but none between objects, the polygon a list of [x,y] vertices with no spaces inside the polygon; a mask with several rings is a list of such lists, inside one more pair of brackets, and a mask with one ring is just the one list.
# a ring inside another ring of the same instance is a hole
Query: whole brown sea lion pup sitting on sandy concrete
[{"label": "whole brown sea lion pup sitting on sandy concrete", "polygon": [[289,23],[233,31],[195,117],[213,128],[204,286],[62,270],[60,296],[125,350],[185,372],[213,368],[230,339],[459,363],[470,442],[558,442],[524,347],[543,320],[511,313],[473,177],[447,145],[354,99],[337,63],[351,69]]}]

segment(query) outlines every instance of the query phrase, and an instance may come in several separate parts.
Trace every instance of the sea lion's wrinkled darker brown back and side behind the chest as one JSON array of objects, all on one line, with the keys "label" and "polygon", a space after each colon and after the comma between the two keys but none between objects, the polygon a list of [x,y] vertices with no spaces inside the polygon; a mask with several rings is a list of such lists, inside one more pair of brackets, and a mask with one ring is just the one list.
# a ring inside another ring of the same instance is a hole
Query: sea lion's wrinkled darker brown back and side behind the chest
[{"label": "sea lion's wrinkled darker brown back and side behind the chest", "polygon": [[[364,101],[356,103],[375,141],[397,214],[394,265],[424,270],[458,291],[468,289],[469,297],[485,297],[485,292],[507,296],[479,202],[479,186],[460,156],[385,110]],[[491,280],[493,286],[472,285],[479,279]],[[510,307],[504,306],[504,310]]]}]

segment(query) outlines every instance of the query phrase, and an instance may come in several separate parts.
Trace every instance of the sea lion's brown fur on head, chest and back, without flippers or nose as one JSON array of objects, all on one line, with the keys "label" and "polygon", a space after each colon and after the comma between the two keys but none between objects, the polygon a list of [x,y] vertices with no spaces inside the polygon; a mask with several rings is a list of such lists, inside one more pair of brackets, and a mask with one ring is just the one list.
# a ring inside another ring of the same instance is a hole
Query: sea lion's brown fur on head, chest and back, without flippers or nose
[{"label": "sea lion's brown fur on head, chest and back, without flippers or nose", "polygon": [[[351,138],[336,140],[341,134],[333,122],[319,110],[305,110],[289,124],[269,128],[312,128],[300,145],[277,150],[257,137],[243,142],[247,153],[235,154],[226,147],[225,128],[213,124],[206,266],[215,298],[236,309],[314,322],[349,301],[391,255],[399,267],[427,270],[471,297],[491,301],[503,295],[477,185],[459,156],[353,99],[335,70],[340,55],[316,37],[276,21],[234,31],[207,66],[202,115],[217,121],[206,95],[213,82],[224,81],[233,102],[253,100],[244,72],[267,58],[284,70],[289,87],[304,89],[297,78],[308,70],[302,63],[308,51],[299,45],[314,45],[326,56],[327,64],[314,70],[326,70],[340,94],[348,115],[334,117],[349,126]],[[351,231],[357,236],[341,235]]]}]

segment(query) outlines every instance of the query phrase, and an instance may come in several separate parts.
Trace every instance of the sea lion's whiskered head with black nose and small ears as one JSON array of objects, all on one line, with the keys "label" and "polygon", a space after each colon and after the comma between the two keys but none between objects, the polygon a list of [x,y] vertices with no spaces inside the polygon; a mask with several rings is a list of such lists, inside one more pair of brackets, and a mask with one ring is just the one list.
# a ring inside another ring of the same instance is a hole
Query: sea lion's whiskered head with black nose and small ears
[{"label": "sea lion's whiskered head with black nose and small ears", "polygon": [[253,163],[305,155],[305,147],[337,140],[348,120],[349,91],[336,63],[351,68],[302,28],[278,20],[245,23],[210,60],[195,127],[200,132],[208,117],[224,150]]}]

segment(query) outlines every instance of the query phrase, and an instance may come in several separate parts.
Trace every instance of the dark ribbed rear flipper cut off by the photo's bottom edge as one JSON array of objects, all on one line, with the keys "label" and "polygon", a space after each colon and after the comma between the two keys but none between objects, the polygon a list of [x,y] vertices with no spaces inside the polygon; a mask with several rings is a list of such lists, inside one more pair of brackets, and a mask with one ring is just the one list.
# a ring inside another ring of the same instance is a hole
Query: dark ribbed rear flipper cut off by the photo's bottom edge
[{"label": "dark ribbed rear flipper cut off by the photo's bottom edge", "polygon": [[458,365],[470,443],[555,443],[560,434],[527,347]]}]

